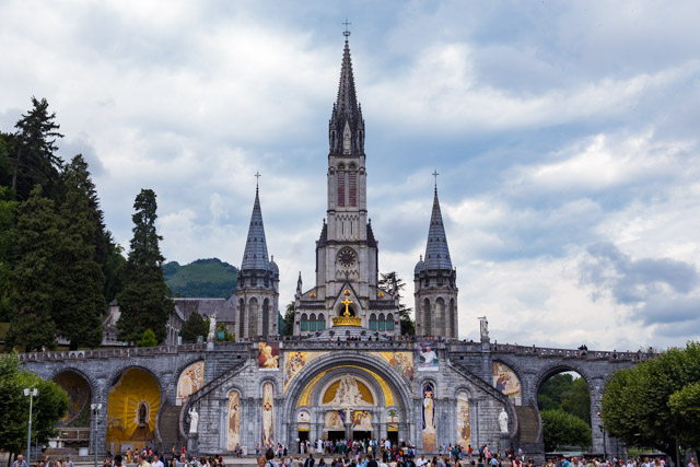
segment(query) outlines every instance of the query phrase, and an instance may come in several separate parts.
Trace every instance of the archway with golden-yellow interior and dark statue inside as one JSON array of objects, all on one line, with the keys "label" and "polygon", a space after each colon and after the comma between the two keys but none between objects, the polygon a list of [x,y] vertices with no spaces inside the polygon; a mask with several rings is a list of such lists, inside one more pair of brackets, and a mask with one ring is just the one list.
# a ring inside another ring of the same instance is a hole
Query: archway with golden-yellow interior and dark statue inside
[{"label": "archway with golden-yellow interior and dark statue inside", "polygon": [[140,451],[153,442],[161,389],[153,375],[142,369],[125,370],[109,387],[106,450]]}]

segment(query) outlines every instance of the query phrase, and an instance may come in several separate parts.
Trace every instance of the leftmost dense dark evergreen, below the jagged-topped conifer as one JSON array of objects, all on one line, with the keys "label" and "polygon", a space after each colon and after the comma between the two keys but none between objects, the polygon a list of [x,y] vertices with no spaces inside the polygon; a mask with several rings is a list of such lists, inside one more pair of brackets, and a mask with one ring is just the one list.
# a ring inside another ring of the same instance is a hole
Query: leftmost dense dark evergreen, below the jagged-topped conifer
[{"label": "leftmost dense dark evergreen, below the jagged-topped conifer", "polygon": [[27,351],[56,346],[56,323],[51,316],[56,283],[61,273],[58,254],[63,243],[62,224],[54,201],[44,198],[37,185],[20,205],[16,224],[19,260],[11,272],[10,308],[13,314],[7,346]]}]

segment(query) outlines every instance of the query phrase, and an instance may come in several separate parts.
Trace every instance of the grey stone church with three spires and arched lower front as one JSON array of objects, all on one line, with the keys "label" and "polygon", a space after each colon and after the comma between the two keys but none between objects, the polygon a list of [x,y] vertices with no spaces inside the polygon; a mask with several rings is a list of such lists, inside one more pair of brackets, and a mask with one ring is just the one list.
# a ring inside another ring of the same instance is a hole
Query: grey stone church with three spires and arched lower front
[{"label": "grey stone church with three spires and arched lower front", "polygon": [[[293,336],[277,328],[279,268],[268,257],[256,189],[231,299],[235,342],[21,355],[71,396],[58,441],[89,439],[100,453],[187,444],[225,454],[278,443],[296,452],[305,440],[387,439],[427,454],[459,444],[541,456],[537,392],[551,375],[575,371],[591,389],[593,450],[603,451],[597,412],[605,382],[643,355],[497,346],[486,319],[479,342],[459,341],[456,270],[436,188],[425,253],[415,268],[417,336],[400,335],[396,287],[378,280],[364,126],[346,36],[328,128],[326,220],[313,287],[298,281]],[[91,404],[101,408],[91,413]]]}]

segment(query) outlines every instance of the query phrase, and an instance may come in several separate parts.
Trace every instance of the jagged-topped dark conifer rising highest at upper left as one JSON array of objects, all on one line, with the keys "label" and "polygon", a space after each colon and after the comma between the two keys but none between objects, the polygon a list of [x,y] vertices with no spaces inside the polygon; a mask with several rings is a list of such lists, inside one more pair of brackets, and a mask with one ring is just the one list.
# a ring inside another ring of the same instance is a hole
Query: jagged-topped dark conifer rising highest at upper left
[{"label": "jagged-topped dark conifer rising highest at upper left", "polygon": [[46,98],[39,101],[32,96],[32,106],[15,125],[18,132],[12,148],[14,157],[10,187],[21,200],[28,198],[36,184],[54,196],[62,165],[61,159],[56,155],[56,141],[63,137],[58,132],[60,126],[55,122],[56,113],[48,112]]}]

